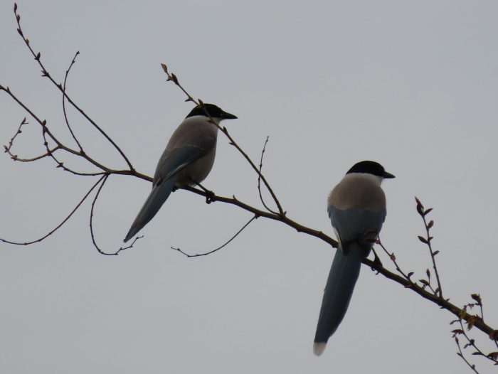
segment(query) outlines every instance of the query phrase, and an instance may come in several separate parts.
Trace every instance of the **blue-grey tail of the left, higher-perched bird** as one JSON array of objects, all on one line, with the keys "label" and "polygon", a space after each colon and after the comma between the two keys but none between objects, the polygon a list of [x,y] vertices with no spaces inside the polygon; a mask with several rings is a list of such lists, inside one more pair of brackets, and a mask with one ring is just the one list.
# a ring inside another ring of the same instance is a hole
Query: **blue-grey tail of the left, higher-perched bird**
[{"label": "blue-grey tail of the left, higher-perched bird", "polygon": [[154,215],[156,215],[171,191],[173,191],[176,179],[178,179],[177,174],[152,187],[149,197],[147,197],[147,200],[142,206],[142,209],[140,209],[137,218],[133,221],[132,227],[129,228],[129,231],[124,238],[124,242],[130,240],[135,234],[142,230],[142,228],[144,228],[144,226],[147,225],[152,218],[154,218]]}]

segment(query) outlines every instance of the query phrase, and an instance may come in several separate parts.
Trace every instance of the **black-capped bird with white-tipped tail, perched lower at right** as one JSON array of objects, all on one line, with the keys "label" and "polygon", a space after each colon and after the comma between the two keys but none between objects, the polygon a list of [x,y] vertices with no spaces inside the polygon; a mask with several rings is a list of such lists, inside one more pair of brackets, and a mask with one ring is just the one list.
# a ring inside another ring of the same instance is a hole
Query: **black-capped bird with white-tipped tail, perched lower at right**
[{"label": "black-capped bird with white-tipped tail, perched lower at right", "polygon": [[361,260],[371,247],[386,219],[386,195],[381,183],[394,178],[375,161],[361,161],[349,169],[329,193],[330,222],[339,243],[325,286],[314,337],[313,352],[320,356],[329,337],[344,318]]}]

